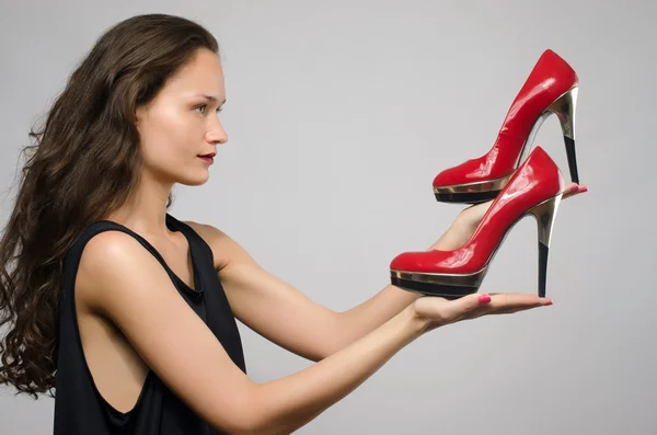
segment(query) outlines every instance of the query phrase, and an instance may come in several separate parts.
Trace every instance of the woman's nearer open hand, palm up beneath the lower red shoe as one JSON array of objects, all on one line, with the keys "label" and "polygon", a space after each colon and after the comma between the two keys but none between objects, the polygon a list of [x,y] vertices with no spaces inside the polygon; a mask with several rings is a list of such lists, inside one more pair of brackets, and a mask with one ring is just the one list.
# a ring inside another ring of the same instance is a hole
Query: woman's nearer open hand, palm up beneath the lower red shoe
[{"label": "woman's nearer open hand, palm up beneath the lower red shoe", "polygon": [[424,296],[413,302],[415,316],[423,322],[423,333],[449,323],[476,319],[486,314],[509,314],[552,305],[551,298],[523,293],[480,294],[448,300]]}]

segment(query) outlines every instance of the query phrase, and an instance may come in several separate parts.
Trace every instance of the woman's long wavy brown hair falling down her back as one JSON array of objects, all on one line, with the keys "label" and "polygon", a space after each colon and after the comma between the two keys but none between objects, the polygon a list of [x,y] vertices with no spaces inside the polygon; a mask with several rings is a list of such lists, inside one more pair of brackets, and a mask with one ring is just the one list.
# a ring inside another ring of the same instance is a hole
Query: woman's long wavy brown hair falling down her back
[{"label": "woman's long wavy brown hair falling down her back", "polygon": [[[72,72],[45,125],[33,126],[15,205],[0,234],[0,385],[55,397],[64,257],[140,180],[135,112],[216,38],[181,16],[147,14],[108,28]],[[172,204],[169,195],[166,208]]]}]

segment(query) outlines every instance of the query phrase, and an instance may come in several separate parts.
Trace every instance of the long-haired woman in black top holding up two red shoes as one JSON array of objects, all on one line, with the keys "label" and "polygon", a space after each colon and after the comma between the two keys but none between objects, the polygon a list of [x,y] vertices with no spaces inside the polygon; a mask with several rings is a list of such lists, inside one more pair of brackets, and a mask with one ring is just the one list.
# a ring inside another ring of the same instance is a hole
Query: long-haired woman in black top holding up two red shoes
[{"label": "long-haired woman in black top holding up two red shoes", "polygon": [[[56,434],[288,434],[428,331],[552,304],[388,286],[337,313],[221,230],[169,215],[173,185],[205,183],[228,140],[218,54],[188,20],[123,21],[31,133],[0,243],[0,325],[11,327],[0,382],[35,397],[55,388]],[[462,244],[488,206],[463,210],[431,248]],[[251,381],[235,318],[316,364]]]}]

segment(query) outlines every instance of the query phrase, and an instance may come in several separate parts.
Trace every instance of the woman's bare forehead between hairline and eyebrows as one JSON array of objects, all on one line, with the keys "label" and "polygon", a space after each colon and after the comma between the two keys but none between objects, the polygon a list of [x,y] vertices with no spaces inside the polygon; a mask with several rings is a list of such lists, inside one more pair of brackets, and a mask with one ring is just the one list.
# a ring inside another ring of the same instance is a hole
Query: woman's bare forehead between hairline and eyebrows
[{"label": "woman's bare forehead between hairline and eyebrows", "polygon": [[219,56],[200,49],[171,78],[165,89],[171,92],[204,92],[223,95],[223,69]]}]

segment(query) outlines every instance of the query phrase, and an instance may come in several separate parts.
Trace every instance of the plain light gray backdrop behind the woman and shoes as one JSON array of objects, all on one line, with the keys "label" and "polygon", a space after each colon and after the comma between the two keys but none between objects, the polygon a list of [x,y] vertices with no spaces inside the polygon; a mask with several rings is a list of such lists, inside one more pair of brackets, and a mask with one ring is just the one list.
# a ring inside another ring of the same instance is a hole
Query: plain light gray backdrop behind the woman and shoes
[{"label": "plain light gray backdrop behind the woman and shoes", "polygon": [[[554,306],[438,329],[299,433],[657,434],[654,2],[3,0],[0,188],[74,64],[145,12],[198,20],[223,50],[229,142],[207,184],[176,186],[171,213],[338,311],[448,228],[461,207],[436,203],[434,175],[491,147],[540,54],[568,60],[589,192],[557,215]],[[537,144],[568,180],[556,118]],[[2,222],[11,207],[3,196]],[[481,291],[535,288],[528,218]],[[312,364],[240,330],[255,381]],[[0,433],[50,433],[53,404],[1,390]]]}]

